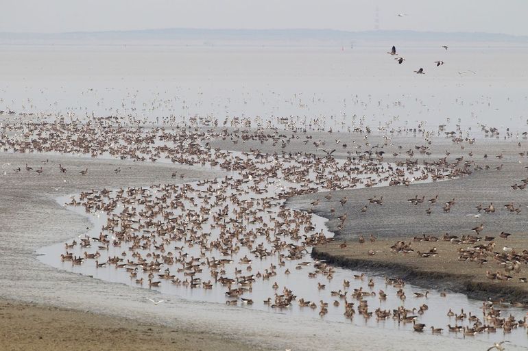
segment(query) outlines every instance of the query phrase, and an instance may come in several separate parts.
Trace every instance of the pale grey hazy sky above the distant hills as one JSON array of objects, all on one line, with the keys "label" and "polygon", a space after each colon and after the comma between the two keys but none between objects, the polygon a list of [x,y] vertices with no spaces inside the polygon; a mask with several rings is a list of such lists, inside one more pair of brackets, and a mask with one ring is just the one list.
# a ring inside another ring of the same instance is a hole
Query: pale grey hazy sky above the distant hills
[{"label": "pale grey hazy sky above the distant hills", "polygon": [[[528,35],[528,0],[1,0],[0,31],[412,29]],[[398,17],[397,14],[407,14]]]}]

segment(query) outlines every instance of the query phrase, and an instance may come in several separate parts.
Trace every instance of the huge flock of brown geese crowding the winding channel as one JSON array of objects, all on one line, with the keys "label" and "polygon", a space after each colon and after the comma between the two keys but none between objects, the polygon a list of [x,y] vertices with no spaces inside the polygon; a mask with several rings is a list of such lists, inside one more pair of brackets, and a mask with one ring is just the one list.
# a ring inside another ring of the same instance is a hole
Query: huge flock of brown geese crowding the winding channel
[{"label": "huge flock of brown geese crowding the winding channel", "polygon": [[[331,237],[321,223],[314,222],[310,211],[288,209],[285,200],[291,196],[330,190],[331,193],[325,196],[329,200],[332,192],[358,186],[408,186],[416,181],[465,177],[477,168],[475,161],[463,157],[451,161],[443,157],[418,164],[418,160],[410,157],[414,152],[429,153],[429,144],[425,144],[407,151],[408,157],[404,160],[387,164],[380,149],[387,146],[390,140],[385,139],[386,144],[374,150],[368,138],[363,138],[365,146],[368,146],[366,151],[357,148],[345,159],[333,157],[335,148],[322,149],[324,156],[307,152],[268,154],[256,149],[236,153],[213,148],[210,144],[212,140],[230,140],[233,144],[242,140],[287,145],[290,140],[300,138],[311,142],[311,137],[296,131],[286,135],[277,131],[269,134],[258,130],[240,133],[238,130],[204,131],[185,127],[143,129],[119,124],[110,127],[111,124],[110,118],[95,118],[91,123],[66,126],[51,123],[4,125],[0,146],[5,151],[17,153],[75,153],[92,157],[111,155],[133,161],[167,161],[206,166],[228,172],[228,175],[183,185],[91,190],[73,196],[68,205],[84,207],[86,212],[97,216],[101,228],[96,229],[95,235],[81,235],[64,244],[60,257],[64,268],[75,270],[90,265],[96,270],[119,270],[130,276],[132,285],[162,291],[167,285],[176,289],[221,289],[225,303],[230,305],[253,305],[256,301],[252,291],[255,289],[267,291],[269,295],[263,299],[263,304],[270,309],[291,309],[297,305],[299,309],[317,310],[321,317],[331,309],[333,313],[340,310],[350,320],[355,315],[361,315],[365,320],[371,317],[378,321],[392,319],[398,324],[412,325],[417,332],[429,325],[420,323],[427,322],[428,305],[421,303],[409,307],[408,302],[406,305],[405,282],[400,279],[386,278],[384,286],[376,289],[378,291],[374,290],[374,278],[368,278],[366,286],[363,286],[364,274],[350,274],[336,283],[334,276],[342,276],[346,271],[341,272],[324,261],[309,258],[313,246],[331,241]],[[10,136],[13,133],[17,133],[18,137]],[[315,148],[324,146],[322,141],[313,143]],[[345,143],[335,140],[335,144]],[[400,156],[400,153],[401,148],[396,155]],[[48,164],[48,161],[44,163]],[[43,166],[25,165],[27,173],[35,171],[39,177],[44,170]],[[23,171],[19,167],[14,172]],[[67,174],[69,170],[59,164],[50,172]],[[119,172],[121,168],[116,168],[115,173]],[[78,177],[87,173],[88,168],[84,168],[78,172]],[[172,176],[176,177],[176,174],[173,172]],[[347,201],[348,198],[342,197],[339,200],[341,207]],[[412,206],[424,203],[435,205],[438,196],[426,200],[426,196],[417,194],[407,201]],[[455,203],[455,199],[446,201],[444,211],[450,211]],[[319,205],[319,200],[312,205]],[[369,198],[368,205],[361,211],[368,211],[369,205],[382,206],[383,196]],[[505,208],[513,207],[514,211],[518,208],[508,205]],[[480,210],[492,213],[494,207],[490,204],[481,206]],[[346,212],[339,219],[341,225],[344,224]],[[476,244],[481,239],[478,235],[482,230],[482,225],[477,226],[473,229],[477,234],[475,237],[468,235],[448,239],[451,242],[459,240],[462,244]],[[507,233],[504,235],[509,236]],[[415,238],[416,241],[420,239]],[[485,238],[485,241],[491,240]],[[366,241],[360,237],[360,244]],[[375,241],[376,238],[371,235],[370,242]],[[526,263],[525,252],[519,254],[511,250],[497,256],[490,244],[480,246],[461,250],[461,257],[467,257],[468,261],[500,259],[501,263],[505,263],[505,270],[509,269],[508,262],[513,262],[513,272],[518,265]],[[404,245],[395,246],[394,250],[412,249]],[[429,257],[436,252],[418,252],[418,255]],[[288,280],[290,274],[296,277],[295,281]],[[494,275],[494,279],[502,277],[502,273]],[[379,281],[377,284],[380,284]],[[427,299],[431,298],[429,294],[429,291],[415,291],[412,295],[415,299]],[[318,302],[316,296],[320,297]],[[444,292],[440,294],[440,297],[443,296]],[[394,303],[392,299],[398,304],[387,309],[385,301]],[[151,302],[157,305],[164,300]],[[467,317],[461,311],[454,316],[455,326],[448,325],[448,331],[477,335],[502,328],[509,333],[526,326],[523,319],[501,315],[501,305],[500,301],[485,303],[481,318],[471,314]],[[468,324],[463,326],[463,322]],[[434,334],[443,333],[442,328],[428,328]]]}]

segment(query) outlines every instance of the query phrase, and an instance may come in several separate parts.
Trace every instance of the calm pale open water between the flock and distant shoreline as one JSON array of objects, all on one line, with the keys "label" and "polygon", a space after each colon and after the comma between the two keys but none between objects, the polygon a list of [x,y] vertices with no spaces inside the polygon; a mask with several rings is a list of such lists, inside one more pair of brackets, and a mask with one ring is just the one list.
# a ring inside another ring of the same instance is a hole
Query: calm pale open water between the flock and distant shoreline
[{"label": "calm pale open water between the flock and distant shoreline", "polygon": [[398,47],[402,65],[384,48],[340,49],[0,47],[0,109],[334,131],[527,127],[527,48]]}]

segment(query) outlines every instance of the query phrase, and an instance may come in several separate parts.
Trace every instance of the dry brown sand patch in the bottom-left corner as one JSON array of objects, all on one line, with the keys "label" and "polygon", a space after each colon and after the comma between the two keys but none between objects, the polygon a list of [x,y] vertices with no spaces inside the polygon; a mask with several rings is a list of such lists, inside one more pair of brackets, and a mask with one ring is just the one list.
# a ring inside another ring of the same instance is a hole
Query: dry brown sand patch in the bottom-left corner
[{"label": "dry brown sand patch in the bottom-left corner", "polygon": [[258,350],[205,333],[12,300],[0,300],[0,317],[5,351]]}]

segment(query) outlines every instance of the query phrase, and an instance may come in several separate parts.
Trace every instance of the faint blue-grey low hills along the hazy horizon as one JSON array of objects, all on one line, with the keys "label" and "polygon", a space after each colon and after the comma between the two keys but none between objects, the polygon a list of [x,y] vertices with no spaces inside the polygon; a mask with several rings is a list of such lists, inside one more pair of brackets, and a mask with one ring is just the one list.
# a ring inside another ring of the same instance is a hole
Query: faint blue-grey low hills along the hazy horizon
[{"label": "faint blue-grey low hills along the hazy horizon", "polygon": [[[441,42],[509,43],[528,45],[528,36],[471,32],[433,31],[339,31],[333,29],[145,29],[68,33],[0,33],[0,44],[167,44],[223,46],[385,46],[391,43]],[[374,44],[375,43],[375,44]],[[374,45],[373,45],[374,44]]]}]

